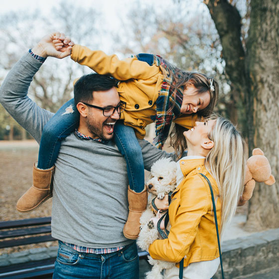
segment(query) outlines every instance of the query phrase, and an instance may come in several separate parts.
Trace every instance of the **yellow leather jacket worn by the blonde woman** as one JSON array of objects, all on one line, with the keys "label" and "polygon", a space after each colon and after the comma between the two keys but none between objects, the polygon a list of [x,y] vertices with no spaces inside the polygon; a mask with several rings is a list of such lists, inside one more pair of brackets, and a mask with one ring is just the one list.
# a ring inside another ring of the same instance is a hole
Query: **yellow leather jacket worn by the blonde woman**
[{"label": "yellow leather jacket worn by the blonde woman", "polygon": [[[184,267],[194,262],[209,261],[219,257],[216,228],[210,188],[198,173],[203,173],[212,184],[214,198],[219,190],[213,177],[204,166],[205,159],[180,160],[184,179],[171,196],[167,239],[155,240],[149,254],[155,260],[179,263],[184,257]],[[220,228],[221,200],[216,202]]]}]

